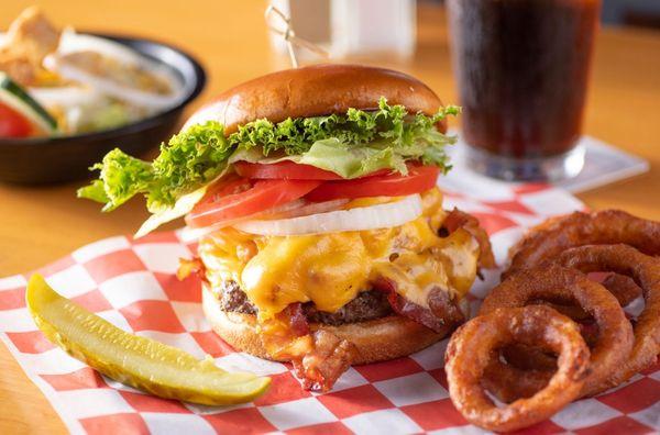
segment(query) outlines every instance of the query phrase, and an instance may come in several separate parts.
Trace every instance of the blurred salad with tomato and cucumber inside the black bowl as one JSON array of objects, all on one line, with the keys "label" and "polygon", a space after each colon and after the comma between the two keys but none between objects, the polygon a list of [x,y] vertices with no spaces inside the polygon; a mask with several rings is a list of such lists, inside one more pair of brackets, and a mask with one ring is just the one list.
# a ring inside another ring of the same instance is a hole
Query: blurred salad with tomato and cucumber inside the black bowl
[{"label": "blurred salad with tomato and cucumber inside the black bowl", "polygon": [[36,7],[0,34],[0,138],[120,127],[176,107],[191,87],[127,45],[57,27]]}]

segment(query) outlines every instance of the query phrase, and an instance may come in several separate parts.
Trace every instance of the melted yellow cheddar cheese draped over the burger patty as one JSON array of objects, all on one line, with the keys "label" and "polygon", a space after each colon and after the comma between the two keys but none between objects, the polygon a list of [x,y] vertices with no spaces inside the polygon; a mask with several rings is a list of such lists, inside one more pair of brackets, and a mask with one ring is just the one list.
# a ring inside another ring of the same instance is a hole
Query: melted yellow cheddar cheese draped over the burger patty
[{"label": "melted yellow cheddar cheese draped over the burger patty", "polygon": [[[360,199],[346,208],[392,199]],[[302,236],[258,236],[224,228],[200,241],[198,253],[211,288],[234,280],[258,309],[273,319],[294,302],[314,302],[334,312],[378,277],[393,280],[410,301],[428,306],[439,286],[462,297],[474,281],[479,244],[460,228],[439,237],[444,220],[438,189],[422,194],[422,215],[402,226]]]}]

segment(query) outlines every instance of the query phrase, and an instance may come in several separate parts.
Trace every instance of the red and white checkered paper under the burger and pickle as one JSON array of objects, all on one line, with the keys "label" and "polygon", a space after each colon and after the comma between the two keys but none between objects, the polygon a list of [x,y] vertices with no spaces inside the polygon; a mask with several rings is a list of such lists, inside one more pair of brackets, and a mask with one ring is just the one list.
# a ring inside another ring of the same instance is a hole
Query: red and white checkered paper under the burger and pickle
[{"label": "red and white checkered paper under the burger and pickle", "polygon": [[[492,236],[502,264],[526,226],[583,208],[570,194],[544,186],[522,186],[448,177],[448,208],[476,215]],[[180,347],[210,354],[228,370],[273,379],[254,403],[209,408],[162,400],[122,386],[54,347],[25,309],[29,274],[0,279],[0,338],[43,391],[73,433],[479,433],[452,405],[442,368],[447,341],[406,358],[352,367],[326,394],[300,389],[292,367],[234,352],[215,335],[200,306],[199,281],[179,282],[179,257],[193,246],[177,233],[134,241],[107,238],[41,269],[48,282],[114,325]],[[473,311],[497,282],[498,271],[472,290]],[[566,406],[530,433],[637,434],[660,431],[660,366],[597,398]]]}]

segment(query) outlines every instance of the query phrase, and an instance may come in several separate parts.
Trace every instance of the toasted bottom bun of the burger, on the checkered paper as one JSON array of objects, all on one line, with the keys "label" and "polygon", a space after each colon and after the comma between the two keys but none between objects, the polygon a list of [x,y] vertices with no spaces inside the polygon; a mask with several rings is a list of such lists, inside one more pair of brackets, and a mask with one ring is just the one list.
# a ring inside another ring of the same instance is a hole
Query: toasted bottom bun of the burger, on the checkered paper
[{"label": "toasted bottom bun of the burger, on the checkered paper", "polygon": [[[285,361],[274,358],[264,348],[256,333],[255,315],[222,311],[217,298],[206,285],[202,287],[202,306],[213,331],[233,348],[260,358]],[[359,352],[353,360],[354,365],[385,361],[414,354],[451,332],[448,327],[447,331],[436,333],[400,315],[340,326],[312,323],[310,328],[322,328],[353,343]]]}]

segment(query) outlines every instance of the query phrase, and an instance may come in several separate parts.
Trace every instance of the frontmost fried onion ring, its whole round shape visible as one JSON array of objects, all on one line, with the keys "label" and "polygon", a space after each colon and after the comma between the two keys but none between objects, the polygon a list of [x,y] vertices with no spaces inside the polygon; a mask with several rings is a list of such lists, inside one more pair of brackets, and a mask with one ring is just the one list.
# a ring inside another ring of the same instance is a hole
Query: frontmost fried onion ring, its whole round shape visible
[{"label": "frontmost fried onion ring, its whole round shape visible", "polygon": [[[497,408],[480,381],[493,350],[512,343],[540,345],[559,355],[558,370],[529,399]],[[501,309],[474,317],[451,337],[446,353],[449,394],[470,422],[488,431],[515,431],[541,422],[580,395],[588,348],[578,326],[548,306]]]}]

